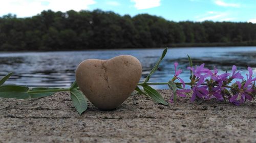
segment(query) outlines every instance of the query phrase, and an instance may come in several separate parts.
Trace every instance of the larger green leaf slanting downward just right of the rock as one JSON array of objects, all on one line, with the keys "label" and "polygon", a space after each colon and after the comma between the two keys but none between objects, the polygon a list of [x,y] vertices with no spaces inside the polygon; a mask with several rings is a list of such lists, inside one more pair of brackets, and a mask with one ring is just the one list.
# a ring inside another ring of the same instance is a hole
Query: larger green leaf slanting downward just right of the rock
[{"label": "larger green leaf slanting downward just right of the rock", "polygon": [[147,84],[142,84],[142,87],[144,91],[148,94],[148,96],[151,97],[154,101],[163,105],[168,105],[168,103],[163,99],[162,95],[155,89],[151,88]]}]

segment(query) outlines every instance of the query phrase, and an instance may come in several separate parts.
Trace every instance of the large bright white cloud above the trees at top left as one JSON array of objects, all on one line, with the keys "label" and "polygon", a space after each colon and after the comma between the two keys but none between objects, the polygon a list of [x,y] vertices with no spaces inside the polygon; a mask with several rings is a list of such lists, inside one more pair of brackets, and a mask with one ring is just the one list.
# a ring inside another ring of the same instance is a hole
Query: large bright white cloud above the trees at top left
[{"label": "large bright white cloud above the trees at top left", "polygon": [[18,17],[29,17],[49,9],[62,12],[79,11],[89,9],[88,6],[95,3],[95,0],[8,0],[1,2],[0,16],[12,13]]}]

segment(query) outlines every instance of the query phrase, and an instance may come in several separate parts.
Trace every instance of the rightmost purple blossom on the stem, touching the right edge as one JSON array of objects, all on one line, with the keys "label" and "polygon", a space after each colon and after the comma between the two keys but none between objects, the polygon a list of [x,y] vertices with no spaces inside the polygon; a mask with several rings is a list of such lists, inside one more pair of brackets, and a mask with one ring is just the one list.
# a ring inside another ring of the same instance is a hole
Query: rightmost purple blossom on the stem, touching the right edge
[{"label": "rightmost purple blossom on the stem, touching the right edge", "polygon": [[[242,83],[240,81],[237,81],[237,85],[238,85],[238,90],[239,93],[233,95],[231,98],[229,98],[229,102],[235,104],[235,105],[239,105],[242,104],[246,101],[246,99],[248,99],[249,101],[252,100],[252,96],[251,93],[254,91],[254,89],[252,88],[252,82],[254,82],[256,80],[256,78],[252,79],[252,69],[251,67],[247,68],[249,71],[249,75],[247,75],[247,80],[244,82],[244,84],[242,85]],[[240,101],[238,101],[238,96],[240,95]]]}]

